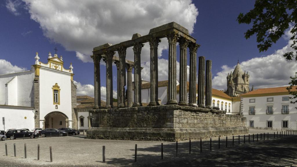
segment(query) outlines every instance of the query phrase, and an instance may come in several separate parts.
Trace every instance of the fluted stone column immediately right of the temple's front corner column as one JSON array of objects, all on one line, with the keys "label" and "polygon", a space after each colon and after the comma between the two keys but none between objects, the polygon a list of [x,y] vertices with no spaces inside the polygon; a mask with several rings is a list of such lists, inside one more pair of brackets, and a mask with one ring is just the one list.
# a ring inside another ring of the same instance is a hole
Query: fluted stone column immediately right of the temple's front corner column
[{"label": "fluted stone column immediately right of the temple's front corner column", "polygon": [[187,100],[187,47],[189,40],[180,38],[179,43],[179,102],[178,105],[188,105]]}]

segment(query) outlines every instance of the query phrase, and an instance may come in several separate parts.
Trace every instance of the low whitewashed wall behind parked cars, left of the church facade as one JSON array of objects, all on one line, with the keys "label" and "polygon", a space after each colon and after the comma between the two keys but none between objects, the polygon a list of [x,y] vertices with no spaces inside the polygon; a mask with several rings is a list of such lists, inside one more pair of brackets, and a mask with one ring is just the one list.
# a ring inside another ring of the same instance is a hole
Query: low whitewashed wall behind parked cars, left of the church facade
[{"label": "low whitewashed wall behind parked cars, left of the church facade", "polygon": [[0,130],[4,130],[4,126],[2,124],[2,117],[5,118],[5,130],[22,128],[28,128],[29,130],[33,130],[34,113],[32,111],[33,108],[11,108],[7,106],[0,106]]}]

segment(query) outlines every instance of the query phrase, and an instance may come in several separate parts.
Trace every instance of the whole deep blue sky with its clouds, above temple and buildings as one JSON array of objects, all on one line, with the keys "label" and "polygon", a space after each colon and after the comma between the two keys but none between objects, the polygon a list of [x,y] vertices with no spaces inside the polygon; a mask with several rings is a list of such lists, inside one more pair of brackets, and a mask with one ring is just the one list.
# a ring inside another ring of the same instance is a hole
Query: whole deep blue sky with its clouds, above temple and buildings
[{"label": "whole deep blue sky with its clouds, above temple and buildings", "polygon": [[[93,85],[94,82],[93,63],[88,62],[90,59],[89,55],[87,55],[91,54],[92,48],[107,42],[115,44],[115,41],[121,42],[129,40],[133,32],[142,32],[141,34],[145,35],[148,33],[148,30],[153,27],[143,28],[141,24],[144,26],[147,24],[147,26],[149,26],[150,22],[159,26],[158,23],[180,21],[184,22],[187,28],[193,26],[191,35],[196,38],[197,43],[201,45],[197,51],[197,55],[205,56],[206,59],[213,61],[212,73],[214,77],[214,88],[226,89],[226,83],[224,81],[226,73],[232,70],[236,65],[237,59],[242,62],[243,70],[246,68],[246,70],[251,70],[251,72],[249,72],[251,75],[254,74],[254,77],[251,77],[250,84],[254,84],[258,88],[286,85],[288,83],[288,76],[290,76],[291,73],[287,74],[285,78],[282,73],[285,74],[285,71],[292,71],[292,69],[296,71],[296,65],[292,62],[290,63],[290,67],[280,67],[279,69],[275,69],[275,72],[269,70],[269,66],[273,67],[275,64],[279,63],[286,64],[283,60],[281,62],[267,60],[277,60],[279,57],[275,57],[275,55],[277,56],[282,53],[282,51],[287,51],[287,48],[283,48],[288,44],[287,38],[281,38],[276,44],[269,48],[268,51],[262,53],[259,53],[257,49],[255,36],[248,40],[244,38],[244,32],[251,27],[251,25],[239,25],[236,18],[240,12],[246,13],[251,10],[254,1],[197,0],[191,2],[186,0],[183,5],[180,5],[181,7],[170,3],[171,6],[168,5],[168,9],[164,7],[164,11],[162,11],[160,15],[158,15],[159,13],[155,14],[156,12],[153,11],[155,8],[154,5],[157,6],[154,2],[145,1],[145,3],[151,4],[146,4],[147,6],[142,9],[141,3],[139,7],[138,5],[132,5],[131,7],[128,1],[122,1],[121,3],[127,3],[127,9],[125,9],[125,7],[121,7],[117,2],[109,1],[108,4],[108,2],[98,1],[97,4],[99,6],[110,6],[110,10],[100,12],[102,12],[103,15],[111,13],[109,15],[111,18],[108,18],[108,21],[112,23],[104,22],[104,20],[101,21],[99,19],[100,17],[98,19],[95,17],[92,18],[96,19],[96,26],[93,27],[93,22],[89,22],[89,24],[86,24],[87,26],[84,27],[79,25],[82,21],[86,23],[87,21],[84,21],[84,19],[89,16],[93,17],[92,14],[88,15],[89,10],[93,7],[91,3],[88,4],[86,1],[84,4],[85,8],[81,9],[82,12],[80,12],[80,9],[73,9],[73,12],[77,10],[77,12],[75,12],[76,19],[71,17],[71,9],[67,7],[70,1],[63,1],[63,3],[61,2],[59,4],[58,1],[47,1],[46,3],[48,4],[38,4],[35,3],[35,1],[31,3],[25,3],[19,0],[0,1],[0,19],[2,23],[0,26],[0,59],[10,62],[13,66],[30,69],[30,65],[34,64],[35,61],[35,52],[39,52],[41,62],[47,62],[48,52],[54,53],[54,48],[57,47],[58,55],[63,56],[64,67],[68,68],[70,62],[73,63],[75,73],[74,80],[79,82],[79,89],[84,89],[84,91],[78,94],[86,93],[91,95],[92,92],[92,90],[89,89],[92,89],[91,85]],[[72,2],[72,4],[75,5],[75,1]],[[117,6],[117,4],[119,10],[117,10],[117,8],[111,8],[111,6]],[[187,15],[181,13],[187,9],[190,9],[189,12],[186,13]],[[143,12],[146,10],[148,12]],[[174,10],[177,12],[174,12]],[[199,12],[197,17],[195,16],[195,10]],[[64,11],[65,13],[63,13]],[[59,14],[56,14],[57,12],[61,12],[61,18]],[[122,15],[121,12],[125,13],[125,15]],[[139,19],[140,16],[138,17],[138,15],[143,15],[145,19]],[[101,13],[98,13],[98,16],[102,16]],[[106,26],[108,24],[111,26]],[[129,25],[125,26],[124,24]],[[180,24],[184,26],[182,23]],[[131,25],[135,27],[133,31],[129,30],[129,26]],[[94,27],[99,28],[92,31]],[[94,33],[89,34],[89,32]],[[114,33],[108,36],[112,32]],[[160,68],[162,68],[161,63],[166,62],[168,59],[168,51],[166,50],[167,40],[164,38],[162,41],[165,42],[164,45],[161,46],[165,48],[162,50],[162,56],[159,54],[159,59],[161,59],[159,61]],[[273,59],[269,56],[274,56],[275,58]],[[143,66],[145,67],[145,64],[149,61],[146,57],[147,55],[144,55],[143,58],[144,61],[147,60],[143,62]],[[133,56],[131,55],[127,56],[127,59],[131,60],[132,58]],[[179,61],[179,55],[177,59]],[[116,67],[113,68],[113,75],[116,76]],[[257,69],[259,73],[264,74],[258,76]],[[267,69],[267,71],[261,69]],[[267,73],[267,75],[265,73]],[[101,74],[101,86],[105,86],[105,65],[101,65]],[[143,75],[145,78],[146,72],[144,72]],[[166,77],[162,76],[159,78],[161,78],[161,80],[166,79]],[[114,83],[114,89],[116,90],[116,83]],[[78,92],[79,91],[80,90],[78,90]]]}]

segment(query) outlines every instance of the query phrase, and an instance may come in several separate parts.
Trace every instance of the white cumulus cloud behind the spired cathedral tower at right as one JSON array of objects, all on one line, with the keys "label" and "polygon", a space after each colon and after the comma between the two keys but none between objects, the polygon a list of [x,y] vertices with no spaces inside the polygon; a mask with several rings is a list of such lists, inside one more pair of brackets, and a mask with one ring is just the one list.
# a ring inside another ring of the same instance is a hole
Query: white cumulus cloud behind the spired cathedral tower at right
[{"label": "white cumulus cloud behind the spired cathedral tower at right", "polygon": [[[286,33],[286,36],[290,36]],[[292,41],[288,44],[275,51],[273,54],[263,57],[256,57],[244,62],[241,62],[241,69],[248,71],[249,85],[254,85],[256,89],[285,86],[290,82],[290,76],[295,75],[297,71],[296,62],[286,61],[283,54],[286,52],[293,51],[290,48]],[[216,89],[227,89],[227,75],[230,71],[233,72],[235,66],[228,67],[223,65],[222,71],[217,73],[213,78],[213,87]]]}]

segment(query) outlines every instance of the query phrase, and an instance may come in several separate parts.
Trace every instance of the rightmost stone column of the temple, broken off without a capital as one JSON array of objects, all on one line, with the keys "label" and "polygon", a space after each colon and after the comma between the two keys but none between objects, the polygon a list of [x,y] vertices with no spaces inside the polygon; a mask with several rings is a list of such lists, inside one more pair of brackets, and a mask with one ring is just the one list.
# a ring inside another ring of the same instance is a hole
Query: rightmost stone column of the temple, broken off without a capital
[{"label": "rightmost stone column of the temple, broken off without a capital", "polygon": [[206,60],[206,81],[205,81],[205,107],[211,107],[211,89],[212,89],[212,74],[211,74],[211,60]]}]

